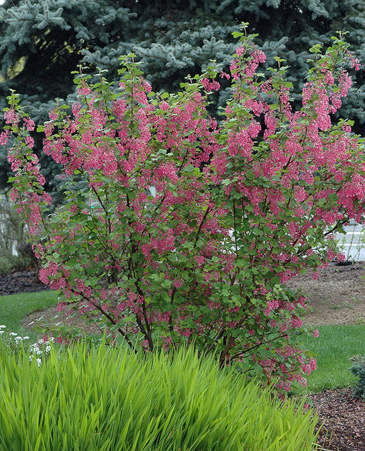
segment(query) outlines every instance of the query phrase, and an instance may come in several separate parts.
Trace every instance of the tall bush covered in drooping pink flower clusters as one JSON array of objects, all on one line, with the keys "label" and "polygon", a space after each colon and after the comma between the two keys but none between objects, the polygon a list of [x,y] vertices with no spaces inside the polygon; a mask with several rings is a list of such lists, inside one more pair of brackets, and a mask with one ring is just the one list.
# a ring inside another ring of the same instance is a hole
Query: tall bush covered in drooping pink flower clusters
[{"label": "tall bush covered in drooping pink flower clusters", "polygon": [[[289,389],[315,361],[299,345],[305,297],[284,282],[338,258],[331,233],[364,213],[363,148],[349,121],[331,123],[351,85],[344,64],[357,62],[341,36],[313,47],[294,110],[282,60],[263,73],[255,36],[236,37],[230,74],[210,68],[177,95],[151,92],[133,56],[119,86],[81,73],[72,110],[55,108],[42,129],[64,167],[67,202],[52,215],[14,94],[0,138],[15,136],[12,199],[43,282],[131,348],[194,343]],[[232,98],[217,123],[207,105],[219,75]]]}]

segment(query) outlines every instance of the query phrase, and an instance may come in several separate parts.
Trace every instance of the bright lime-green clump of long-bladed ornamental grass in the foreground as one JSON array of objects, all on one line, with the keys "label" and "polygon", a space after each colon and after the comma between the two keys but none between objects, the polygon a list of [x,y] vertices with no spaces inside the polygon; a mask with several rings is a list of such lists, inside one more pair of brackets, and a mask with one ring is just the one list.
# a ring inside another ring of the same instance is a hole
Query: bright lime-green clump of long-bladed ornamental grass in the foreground
[{"label": "bright lime-green clump of long-bladed ornamental grass in the foreground", "polygon": [[[298,451],[316,417],[192,348],[51,349],[38,367],[0,344],[0,449]],[[20,357],[20,358],[19,358]]]}]

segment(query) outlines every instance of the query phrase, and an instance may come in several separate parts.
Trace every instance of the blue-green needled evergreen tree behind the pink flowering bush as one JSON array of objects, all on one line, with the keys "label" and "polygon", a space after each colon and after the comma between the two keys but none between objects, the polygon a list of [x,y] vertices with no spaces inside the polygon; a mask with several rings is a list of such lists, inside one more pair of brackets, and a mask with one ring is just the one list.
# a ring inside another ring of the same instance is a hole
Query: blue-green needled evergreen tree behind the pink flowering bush
[{"label": "blue-green needled evergreen tree behind the pink flowering bush", "polygon": [[[290,65],[298,97],[299,80],[309,68],[308,49],[328,45],[337,30],[349,31],[352,51],[365,65],[363,0],[5,0],[0,16],[0,107],[15,89],[39,122],[47,120],[56,98],[72,99],[71,71],[77,64],[90,71],[107,69],[116,80],[118,57],[134,51],[155,90],[177,90],[186,75],[200,72],[209,60],[227,69],[235,50],[231,32],[242,21],[259,34],[256,42],[268,64],[280,56]],[[341,114],[354,119],[361,133],[364,71],[356,81]],[[219,102],[227,96],[223,89]],[[52,184],[57,169],[48,160],[41,164]],[[8,172],[0,153],[1,186]]]}]

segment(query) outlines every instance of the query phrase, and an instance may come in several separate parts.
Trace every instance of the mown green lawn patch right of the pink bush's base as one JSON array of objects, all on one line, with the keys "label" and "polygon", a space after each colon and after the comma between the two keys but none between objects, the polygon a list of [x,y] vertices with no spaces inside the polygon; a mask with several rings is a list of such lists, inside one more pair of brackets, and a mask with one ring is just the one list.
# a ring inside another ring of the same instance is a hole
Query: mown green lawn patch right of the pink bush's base
[{"label": "mown green lawn patch right of the pink bush's base", "polygon": [[308,391],[355,385],[349,358],[365,353],[365,325],[320,326],[318,331],[318,338],[303,337],[305,348],[314,352],[317,361],[316,371],[307,378]]}]

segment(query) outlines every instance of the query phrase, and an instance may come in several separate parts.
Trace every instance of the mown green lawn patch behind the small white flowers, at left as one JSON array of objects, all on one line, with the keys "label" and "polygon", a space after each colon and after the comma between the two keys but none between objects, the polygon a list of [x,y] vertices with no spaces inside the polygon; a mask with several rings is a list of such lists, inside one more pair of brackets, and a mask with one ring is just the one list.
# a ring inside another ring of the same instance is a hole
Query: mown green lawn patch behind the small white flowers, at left
[{"label": "mown green lawn patch behind the small white flowers, at left", "polygon": [[9,331],[21,332],[23,317],[57,305],[57,298],[55,291],[0,296],[0,324],[4,324]]}]

